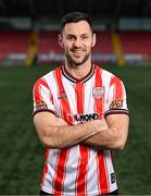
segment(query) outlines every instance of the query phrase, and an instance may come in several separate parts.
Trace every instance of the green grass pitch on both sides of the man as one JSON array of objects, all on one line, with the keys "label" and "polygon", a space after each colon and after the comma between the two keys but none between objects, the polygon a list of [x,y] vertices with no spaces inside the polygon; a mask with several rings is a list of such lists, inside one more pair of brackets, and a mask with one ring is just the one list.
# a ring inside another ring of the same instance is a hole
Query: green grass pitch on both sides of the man
[{"label": "green grass pitch on both sides of the man", "polygon": [[[123,151],[114,151],[121,194],[151,194],[151,68],[104,65],[123,78],[130,110],[130,128]],[[35,132],[32,89],[53,69],[0,65],[0,194],[39,192],[45,148]]]}]

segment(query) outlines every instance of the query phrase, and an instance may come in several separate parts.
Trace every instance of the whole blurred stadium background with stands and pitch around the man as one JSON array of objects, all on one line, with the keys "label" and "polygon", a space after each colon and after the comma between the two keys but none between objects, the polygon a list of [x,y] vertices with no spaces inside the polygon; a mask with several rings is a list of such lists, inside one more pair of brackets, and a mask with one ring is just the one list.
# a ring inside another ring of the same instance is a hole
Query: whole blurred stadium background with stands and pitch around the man
[{"label": "whole blurred stadium background with stands and pitch around the man", "polygon": [[95,22],[92,60],[123,78],[129,137],[114,164],[124,195],[151,194],[151,0],[0,0],[0,194],[36,195],[45,149],[32,122],[35,81],[63,63],[60,19]]}]

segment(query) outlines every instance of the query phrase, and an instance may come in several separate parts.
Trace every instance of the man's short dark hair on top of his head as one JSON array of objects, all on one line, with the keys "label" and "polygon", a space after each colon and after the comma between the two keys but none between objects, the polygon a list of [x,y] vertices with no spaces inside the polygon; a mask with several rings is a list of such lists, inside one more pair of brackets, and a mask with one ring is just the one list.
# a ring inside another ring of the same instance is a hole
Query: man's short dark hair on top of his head
[{"label": "man's short dark hair on top of his head", "polygon": [[61,33],[67,23],[77,23],[79,21],[86,21],[89,24],[91,32],[93,32],[92,21],[88,14],[83,12],[70,12],[61,20]]}]

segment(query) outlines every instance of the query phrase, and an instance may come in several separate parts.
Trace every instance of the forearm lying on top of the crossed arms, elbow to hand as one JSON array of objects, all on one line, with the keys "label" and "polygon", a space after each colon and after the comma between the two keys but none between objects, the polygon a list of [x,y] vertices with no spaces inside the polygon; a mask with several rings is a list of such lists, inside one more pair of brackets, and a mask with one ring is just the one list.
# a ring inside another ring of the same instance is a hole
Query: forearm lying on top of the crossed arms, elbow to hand
[{"label": "forearm lying on top of the crossed arms, elbow to hand", "polygon": [[43,125],[37,128],[39,138],[48,148],[65,148],[76,145],[99,132],[93,122],[79,125]]}]

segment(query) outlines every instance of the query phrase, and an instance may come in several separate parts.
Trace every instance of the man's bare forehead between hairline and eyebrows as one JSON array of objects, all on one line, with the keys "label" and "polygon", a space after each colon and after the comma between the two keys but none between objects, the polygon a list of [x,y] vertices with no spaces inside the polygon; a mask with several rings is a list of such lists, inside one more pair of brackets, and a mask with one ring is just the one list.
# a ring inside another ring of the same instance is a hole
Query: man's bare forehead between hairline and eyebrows
[{"label": "man's bare forehead between hairline and eyebrows", "polygon": [[79,21],[74,23],[67,23],[64,26],[63,34],[65,35],[79,35],[79,34],[91,34],[89,24],[86,21]]}]

